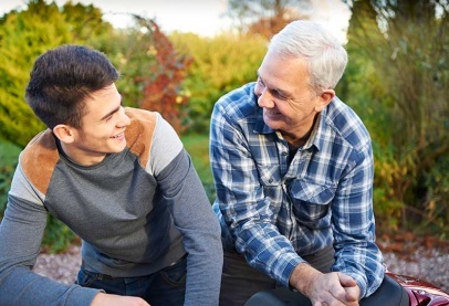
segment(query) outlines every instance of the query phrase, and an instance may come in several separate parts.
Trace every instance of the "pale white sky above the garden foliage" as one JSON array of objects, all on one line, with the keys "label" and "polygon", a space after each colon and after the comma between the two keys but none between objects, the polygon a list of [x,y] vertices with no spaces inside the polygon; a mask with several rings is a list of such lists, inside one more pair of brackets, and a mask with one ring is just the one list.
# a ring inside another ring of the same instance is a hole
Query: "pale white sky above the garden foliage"
[{"label": "pale white sky above the garden foliage", "polygon": [[[50,2],[50,0],[48,0]],[[55,0],[62,6],[66,0]],[[194,32],[213,36],[229,29],[231,22],[222,17],[227,0],[72,0],[73,3],[94,4],[104,19],[116,28],[125,28],[132,19],[126,13],[137,13],[155,19],[166,33],[171,31]],[[341,0],[311,0],[315,9],[313,20],[333,31],[344,42],[344,29],[351,15]],[[27,8],[27,0],[0,0],[0,14],[12,9]]]}]

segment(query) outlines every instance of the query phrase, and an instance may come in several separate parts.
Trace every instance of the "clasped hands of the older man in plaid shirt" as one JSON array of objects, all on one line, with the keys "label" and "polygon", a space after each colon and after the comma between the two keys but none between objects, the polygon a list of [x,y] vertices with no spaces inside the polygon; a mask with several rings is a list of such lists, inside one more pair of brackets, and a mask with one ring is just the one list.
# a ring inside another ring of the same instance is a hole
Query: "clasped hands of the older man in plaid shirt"
[{"label": "clasped hands of the older man in plaid shirt", "polygon": [[361,296],[361,289],[351,276],[340,272],[323,274],[305,263],[294,268],[290,284],[307,296],[314,306],[356,306]]}]

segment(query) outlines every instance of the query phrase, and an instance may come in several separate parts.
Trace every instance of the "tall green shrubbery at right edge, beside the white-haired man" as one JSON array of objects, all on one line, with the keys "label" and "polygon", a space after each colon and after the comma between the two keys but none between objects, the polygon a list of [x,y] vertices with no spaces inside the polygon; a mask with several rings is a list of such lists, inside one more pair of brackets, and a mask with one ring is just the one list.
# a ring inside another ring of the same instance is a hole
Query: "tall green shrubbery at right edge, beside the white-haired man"
[{"label": "tall green shrubbery at right edge, beside the white-haired man", "polygon": [[[393,201],[407,203],[403,224],[410,212],[435,222],[448,217],[441,209],[448,208],[448,173],[437,171],[449,162],[448,9],[446,0],[359,0],[352,8],[348,48],[374,63],[384,99],[370,107],[389,116],[384,138],[375,139],[380,163],[389,167],[379,183],[388,182]],[[437,177],[441,188],[431,186]]]}]

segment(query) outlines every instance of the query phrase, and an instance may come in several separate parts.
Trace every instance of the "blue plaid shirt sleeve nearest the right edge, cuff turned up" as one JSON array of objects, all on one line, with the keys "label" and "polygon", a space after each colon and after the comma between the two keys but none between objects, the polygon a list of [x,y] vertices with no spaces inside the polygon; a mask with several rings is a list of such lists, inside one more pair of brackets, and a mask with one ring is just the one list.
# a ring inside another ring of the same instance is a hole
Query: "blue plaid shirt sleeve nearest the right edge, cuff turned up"
[{"label": "blue plaid shirt sleeve nearest the right edge, cuff turned up", "polygon": [[332,270],[352,276],[364,297],[380,285],[385,272],[382,253],[375,244],[370,146],[353,151],[349,160],[332,205],[336,252]]}]

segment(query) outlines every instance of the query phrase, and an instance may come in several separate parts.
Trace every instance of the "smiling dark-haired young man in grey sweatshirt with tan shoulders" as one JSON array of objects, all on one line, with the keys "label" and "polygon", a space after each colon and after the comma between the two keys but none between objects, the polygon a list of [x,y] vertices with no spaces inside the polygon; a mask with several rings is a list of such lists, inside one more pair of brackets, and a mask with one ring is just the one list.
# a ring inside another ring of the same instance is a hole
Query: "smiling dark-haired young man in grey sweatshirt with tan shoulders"
[{"label": "smiling dark-haired young man in grey sweatshirt with tan shoulders", "polygon": [[[118,72],[62,45],[34,63],[27,101],[48,126],[19,157],[0,225],[0,305],[217,305],[220,228],[171,126],[124,108]],[[46,215],[83,242],[77,284],[31,271]]]}]

